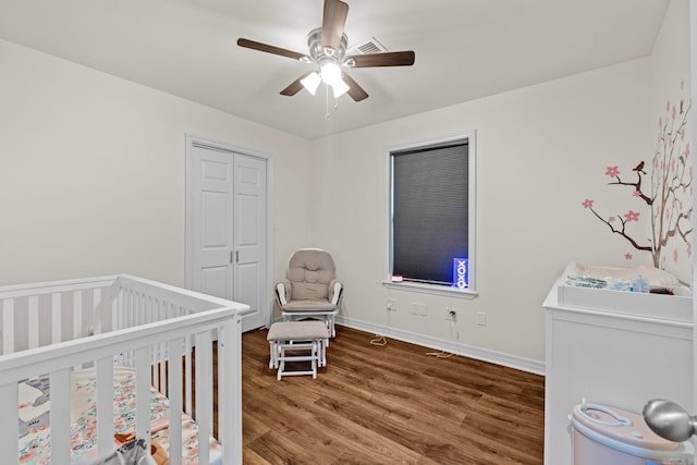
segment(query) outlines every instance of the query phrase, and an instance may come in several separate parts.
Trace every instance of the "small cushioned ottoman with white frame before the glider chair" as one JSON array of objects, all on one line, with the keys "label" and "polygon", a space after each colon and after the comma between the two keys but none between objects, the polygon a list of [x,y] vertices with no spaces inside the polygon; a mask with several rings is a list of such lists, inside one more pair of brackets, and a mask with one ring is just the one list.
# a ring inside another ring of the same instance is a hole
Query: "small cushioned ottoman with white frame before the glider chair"
[{"label": "small cushioned ottoman with white frame before the glider chair", "polygon": [[[329,328],[323,321],[277,321],[269,328],[267,341],[271,358],[269,368],[278,369],[277,379],[283,376],[311,375],[317,378],[317,367],[327,365]],[[286,370],[286,362],[309,362],[308,370]]]}]

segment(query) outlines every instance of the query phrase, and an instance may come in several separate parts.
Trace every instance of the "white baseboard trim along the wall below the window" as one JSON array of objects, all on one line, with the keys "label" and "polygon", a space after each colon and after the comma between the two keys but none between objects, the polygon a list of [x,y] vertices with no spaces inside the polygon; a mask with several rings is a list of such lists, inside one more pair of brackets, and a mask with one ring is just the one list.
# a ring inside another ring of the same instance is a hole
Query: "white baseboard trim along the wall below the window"
[{"label": "white baseboard trim along the wall below the window", "polygon": [[408,342],[411,344],[423,345],[425,347],[449,352],[456,355],[463,355],[465,357],[475,358],[477,360],[488,362],[491,364],[502,365],[504,367],[545,376],[545,363],[534,360],[531,358],[517,357],[515,355],[509,355],[496,351],[488,351],[486,348],[479,348],[453,341],[443,341],[442,339],[417,334],[409,331],[403,331],[395,328],[387,328],[384,326],[374,325],[366,321],[345,318],[342,316],[337,316],[335,322],[340,326],[371,332],[374,334],[384,335],[387,338],[396,339],[399,341]]}]

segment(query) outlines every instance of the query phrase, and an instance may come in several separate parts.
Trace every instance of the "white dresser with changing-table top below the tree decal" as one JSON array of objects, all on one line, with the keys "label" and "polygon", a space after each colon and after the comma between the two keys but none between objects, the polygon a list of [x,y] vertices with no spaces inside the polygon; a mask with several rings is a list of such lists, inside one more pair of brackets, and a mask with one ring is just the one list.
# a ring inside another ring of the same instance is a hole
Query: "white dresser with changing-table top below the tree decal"
[{"label": "white dresser with changing-table top below the tree decal", "polygon": [[554,283],[543,304],[545,464],[572,463],[568,415],[582,397],[637,413],[647,401],[661,397],[694,412],[689,295],[561,282]]}]

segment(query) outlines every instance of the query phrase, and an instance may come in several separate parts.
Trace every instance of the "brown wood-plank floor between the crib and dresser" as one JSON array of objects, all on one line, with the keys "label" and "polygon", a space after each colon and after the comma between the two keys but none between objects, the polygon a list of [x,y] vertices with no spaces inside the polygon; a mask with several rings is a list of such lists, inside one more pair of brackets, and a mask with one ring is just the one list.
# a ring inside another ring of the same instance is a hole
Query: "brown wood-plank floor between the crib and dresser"
[{"label": "brown wood-plank floor between the crib and dresser", "polygon": [[276,379],[243,334],[245,464],[542,463],[545,379],[338,327],[317,379]]}]

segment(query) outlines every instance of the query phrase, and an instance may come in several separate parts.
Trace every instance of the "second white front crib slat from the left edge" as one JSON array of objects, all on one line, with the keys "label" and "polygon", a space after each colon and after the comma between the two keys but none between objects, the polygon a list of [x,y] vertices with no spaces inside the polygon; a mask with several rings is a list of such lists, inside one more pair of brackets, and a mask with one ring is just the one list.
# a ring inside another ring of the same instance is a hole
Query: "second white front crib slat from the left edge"
[{"label": "second white front crib slat from the left edge", "polygon": [[[52,371],[50,396],[56,400],[70,399],[70,370]],[[70,463],[70,402],[51,402],[51,463]]]}]

